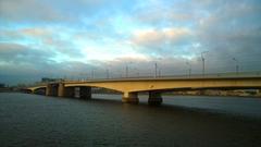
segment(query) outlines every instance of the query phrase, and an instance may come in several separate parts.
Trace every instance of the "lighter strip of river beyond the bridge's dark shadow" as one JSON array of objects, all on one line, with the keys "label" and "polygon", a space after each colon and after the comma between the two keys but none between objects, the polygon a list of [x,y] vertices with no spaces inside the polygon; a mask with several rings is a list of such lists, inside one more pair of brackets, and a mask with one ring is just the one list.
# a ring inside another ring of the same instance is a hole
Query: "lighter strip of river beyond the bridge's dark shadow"
[{"label": "lighter strip of river beyond the bridge's dark shadow", "polygon": [[[121,95],[94,95],[98,99],[121,100]],[[148,103],[148,96],[140,95],[139,101]],[[261,98],[217,96],[163,96],[163,107],[184,107],[209,112],[261,118]]]}]

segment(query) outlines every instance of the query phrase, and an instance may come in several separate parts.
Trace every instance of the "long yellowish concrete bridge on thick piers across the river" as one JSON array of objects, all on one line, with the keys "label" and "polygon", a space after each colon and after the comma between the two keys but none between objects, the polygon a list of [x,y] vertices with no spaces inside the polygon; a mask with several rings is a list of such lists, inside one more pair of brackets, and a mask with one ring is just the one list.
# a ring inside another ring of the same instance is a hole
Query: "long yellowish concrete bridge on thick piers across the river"
[{"label": "long yellowish concrete bridge on thick piers across the river", "polygon": [[61,81],[51,82],[26,88],[29,93],[44,89],[46,96],[75,97],[78,89],[79,98],[90,99],[91,87],[116,90],[123,94],[122,101],[138,103],[138,93],[148,91],[148,102],[160,105],[161,94],[175,90],[199,89],[259,89],[261,94],[261,76],[194,76],[194,77],[147,77],[114,78],[95,81]]}]

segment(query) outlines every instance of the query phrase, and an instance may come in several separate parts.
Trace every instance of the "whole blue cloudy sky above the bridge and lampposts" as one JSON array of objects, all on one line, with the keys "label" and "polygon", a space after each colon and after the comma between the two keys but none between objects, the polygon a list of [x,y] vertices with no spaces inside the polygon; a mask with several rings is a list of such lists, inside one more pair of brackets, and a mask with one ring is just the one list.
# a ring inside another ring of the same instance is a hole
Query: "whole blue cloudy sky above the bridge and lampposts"
[{"label": "whole blue cloudy sky above the bridge and lampposts", "polygon": [[261,71],[261,1],[0,0],[0,83],[200,74],[202,57]]}]

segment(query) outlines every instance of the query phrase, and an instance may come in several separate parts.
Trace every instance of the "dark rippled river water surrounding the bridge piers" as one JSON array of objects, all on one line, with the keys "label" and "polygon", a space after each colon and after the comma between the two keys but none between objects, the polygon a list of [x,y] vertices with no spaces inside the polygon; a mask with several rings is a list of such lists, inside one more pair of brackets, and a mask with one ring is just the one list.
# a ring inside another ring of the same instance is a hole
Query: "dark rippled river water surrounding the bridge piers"
[{"label": "dark rippled river water surrounding the bridge piers", "polygon": [[0,147],[260,147],[261,99],[0,94]]}]

